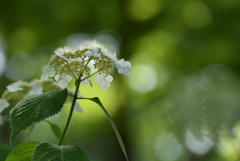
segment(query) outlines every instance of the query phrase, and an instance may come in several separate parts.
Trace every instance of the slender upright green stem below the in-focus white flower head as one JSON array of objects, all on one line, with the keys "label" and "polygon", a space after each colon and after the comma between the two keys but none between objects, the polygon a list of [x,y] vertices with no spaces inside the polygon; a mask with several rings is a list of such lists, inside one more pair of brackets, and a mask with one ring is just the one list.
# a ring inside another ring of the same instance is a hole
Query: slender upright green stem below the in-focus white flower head
[{"label": "slender upright green stem below the in-focus white flower head", "polygon": [[77,79],[77,86],[76,86],[76,90],[75,90],[75,94],[73,96],[73,101],[72,101],[72,105],[71,105],[71,109],[70,109],[70,112],[69,112],[69,116],[68,116],[68,120],[67,120],[67,123],[65,125],[65,128],[63,130],[63,133],[62,133],[62,136],[59,140],[59,143],[58,143],[58,146],[61,146],[62,144],[62,141],[63,141],[63,138],[67,132],[67,129],[68,129],[68,126],[69,126],[69,123],[71,121],[71,118],[72,118],[72,114],[73,114],[73,110],[74,110],[74,106],[75,106],[75,103],[77,101],[77,98],[78,98],[78,90],[79,90],[79,86],[80,86],[80,82],[81,82],[81,76],[82,74],[79,75],[78,79]]}]

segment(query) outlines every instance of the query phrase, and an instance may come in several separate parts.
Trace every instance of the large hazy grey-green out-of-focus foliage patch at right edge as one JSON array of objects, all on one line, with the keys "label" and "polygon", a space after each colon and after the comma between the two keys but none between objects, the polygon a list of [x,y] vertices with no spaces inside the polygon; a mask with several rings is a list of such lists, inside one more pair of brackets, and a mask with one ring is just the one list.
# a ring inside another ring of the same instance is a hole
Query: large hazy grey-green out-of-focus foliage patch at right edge
[{"label": "large hazy grey-green out-of-focus foliage patch at right edge", "polygon": [[239,80],[228,67],[209,65],[201,73],[176,80],[167,96],[172,104],[168,116],[195,139],[203,141],[207,136],[216,142],[219,131],[231,133],[239,122],[239,95]]}]

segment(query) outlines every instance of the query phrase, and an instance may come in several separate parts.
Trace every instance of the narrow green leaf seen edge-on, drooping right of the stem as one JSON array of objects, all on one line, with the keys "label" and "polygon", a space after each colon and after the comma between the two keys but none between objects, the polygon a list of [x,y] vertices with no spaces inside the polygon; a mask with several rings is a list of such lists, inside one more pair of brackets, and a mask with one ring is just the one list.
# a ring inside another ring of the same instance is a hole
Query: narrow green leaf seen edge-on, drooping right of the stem
[{"label": "narrow green leaf seen edge-on, drooping right of the stem", "polygon": [[126,152],[126,149],[125,149],[125,147],[124,147],[124,144],[123,144],[121,135],[119,134],[118,129],[117,129],[117,126],[115,125],[112,117],[109,115],[109,113],[107,112],[107,110],[104,108],[103,104],[101,103],[101,101],[99,100],[98,97],[89,98],[89,100],[91,100],[91,101],[95,102],[96,104],[98,104],[98,105],[102,108],[103,112],[107,115],[108,120],[110,121],[110,123],[111,123],[111,125],[112,125],[112,127],[113,127],[113,130],[114,130],[114,132],[115,132],[116,135],[117,135],[118,142],[119,142],[119,144],[120,144],[120,146],[121,146],[121,149],[122,149],[122,151],[123,151],[123,153],[124,153],[124,155],[125,155],[125,157],[126,157],[126,159],[127,159],[127,161],[128,161],[127,152]]}]

